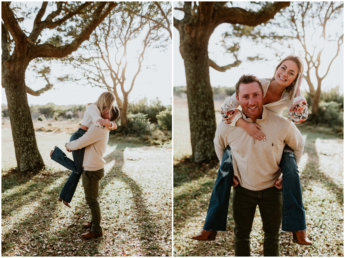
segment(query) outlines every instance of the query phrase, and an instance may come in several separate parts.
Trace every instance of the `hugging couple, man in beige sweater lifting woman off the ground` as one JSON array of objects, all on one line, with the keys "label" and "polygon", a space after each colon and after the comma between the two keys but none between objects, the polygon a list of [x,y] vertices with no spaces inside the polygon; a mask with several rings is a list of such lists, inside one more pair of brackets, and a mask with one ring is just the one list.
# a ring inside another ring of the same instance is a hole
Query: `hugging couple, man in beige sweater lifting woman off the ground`
[{"label": "hugging couple, man in beige sweater lifting woman off the ground", "polygon": [[80,127],[65,145],[66,150],[72,152],[73,160],[57,146],[50,152],[52,160],[72,170],[58,198],[69,208],[82,176],[85,199],[91,210],[90,222],[82,224],[85,228],[91,228],[89,232],[81,235],[86,239],[103,235],[98,201],[99,181],[104,176],[106,161],[103,155],[107,149],[109,131],[117,128],[114,121],[119,115],[119,109],[115,106],[115,95],[109,91],[103,92],[95,103],[86,105]]}]

